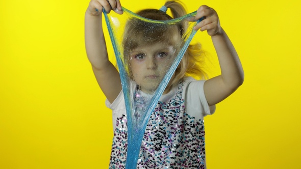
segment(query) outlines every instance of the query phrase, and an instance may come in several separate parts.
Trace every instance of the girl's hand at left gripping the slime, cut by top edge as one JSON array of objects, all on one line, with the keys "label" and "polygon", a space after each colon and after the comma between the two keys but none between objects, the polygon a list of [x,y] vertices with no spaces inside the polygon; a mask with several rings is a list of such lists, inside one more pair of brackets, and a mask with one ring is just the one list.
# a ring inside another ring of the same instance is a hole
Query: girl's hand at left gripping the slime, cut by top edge
[{"label": "girl's hand at left gripping the slime, cut by top edge", "polygon": [[107,13],[110,13],[111,10],[118,14],[123,13],[119,0],[91,0],[87,11],[91,15],[97,16],[103,12],[103,9]]}]

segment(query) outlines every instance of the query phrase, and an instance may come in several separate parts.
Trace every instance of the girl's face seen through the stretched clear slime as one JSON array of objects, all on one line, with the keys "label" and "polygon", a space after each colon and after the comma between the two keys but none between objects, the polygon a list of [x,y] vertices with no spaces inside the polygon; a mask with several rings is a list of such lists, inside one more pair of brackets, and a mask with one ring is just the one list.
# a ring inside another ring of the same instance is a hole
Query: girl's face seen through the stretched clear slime
[{"label": "girl's face seen through the stretched clear slime", "polygon": [[174,54],[175,49],[164,42],[138,46],[131,51],[130,69],[141,91],[153,93],[157,89],[175,58]]}]

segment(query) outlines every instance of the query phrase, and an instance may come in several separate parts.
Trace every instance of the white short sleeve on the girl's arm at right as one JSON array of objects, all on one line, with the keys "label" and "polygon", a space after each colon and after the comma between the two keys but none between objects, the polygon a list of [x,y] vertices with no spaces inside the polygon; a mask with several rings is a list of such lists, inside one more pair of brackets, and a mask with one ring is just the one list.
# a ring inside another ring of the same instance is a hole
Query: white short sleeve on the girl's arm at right
[{"label": "white short sleeve on the girl's arm at right", "polygon": [[186,109],[194,117],[212,115],[215,105],[209,106],[204,93],[205,80],[194,80],[187,84],[186,88]]}]

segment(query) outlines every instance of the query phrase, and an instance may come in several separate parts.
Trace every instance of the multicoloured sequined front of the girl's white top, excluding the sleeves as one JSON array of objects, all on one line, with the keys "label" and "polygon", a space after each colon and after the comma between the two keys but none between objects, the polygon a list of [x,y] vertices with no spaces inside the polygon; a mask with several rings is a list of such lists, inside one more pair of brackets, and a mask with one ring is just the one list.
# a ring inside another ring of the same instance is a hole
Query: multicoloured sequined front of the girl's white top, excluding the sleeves
[{"label": "multicoloured sequined front of the girl's white top, excluding the sleeves", "polygon": [[[202,119],[185,112],[183,82],[175,97],[159,101],[141,143],[137,168],[205,168],[205,130]],[[125,168],[127,118],[117,118],[110,168]]]}]

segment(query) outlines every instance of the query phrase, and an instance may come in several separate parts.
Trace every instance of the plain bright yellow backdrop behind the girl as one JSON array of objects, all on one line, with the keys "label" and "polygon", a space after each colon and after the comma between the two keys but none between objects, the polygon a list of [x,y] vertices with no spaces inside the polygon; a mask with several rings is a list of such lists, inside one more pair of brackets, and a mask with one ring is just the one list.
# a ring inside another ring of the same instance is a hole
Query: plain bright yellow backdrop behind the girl
[{"label": "plain bright yellow backdrop behind the girl", "polygon": [[[88,3],[0,2],[0,168],[108,168],[111,111],[85,53]],[[218,12],[245,71],[244,84],[205,118],[208,168],[301,168],[299,1],[185,4],[189,12],[203,4]],[[194,39],[217,75],[210,37]]]}]

